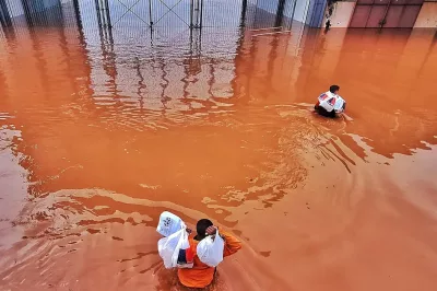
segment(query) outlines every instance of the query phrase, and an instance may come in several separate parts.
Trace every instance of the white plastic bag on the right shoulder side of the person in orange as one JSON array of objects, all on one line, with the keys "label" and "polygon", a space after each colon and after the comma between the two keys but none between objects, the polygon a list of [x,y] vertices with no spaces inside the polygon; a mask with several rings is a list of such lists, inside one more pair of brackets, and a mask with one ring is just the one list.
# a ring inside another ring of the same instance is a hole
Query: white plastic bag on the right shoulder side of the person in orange
[{"label": "white plastic bag on the right shoulder side of the person in orange", "polygon": [[225,242],[222,236],[218,234],[218,230],[215,236],[206,236],[197,247],[197,254],[203,264],[206,264],[210,267],[216,267],[223,260],[223,251],[224,251]]}]

